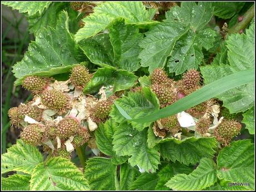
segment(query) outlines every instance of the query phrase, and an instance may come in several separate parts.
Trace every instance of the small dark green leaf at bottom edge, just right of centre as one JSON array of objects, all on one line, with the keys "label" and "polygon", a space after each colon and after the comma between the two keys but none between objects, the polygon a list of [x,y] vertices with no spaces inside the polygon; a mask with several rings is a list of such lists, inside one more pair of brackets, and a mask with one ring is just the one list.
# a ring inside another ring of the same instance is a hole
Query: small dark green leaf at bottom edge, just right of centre
[{"label": "small dark green leaf at bottom edge, just right of centre", "polygon": [[130,186],[129,190],[155,190],[159,176],[156,173],[142,173]]}]

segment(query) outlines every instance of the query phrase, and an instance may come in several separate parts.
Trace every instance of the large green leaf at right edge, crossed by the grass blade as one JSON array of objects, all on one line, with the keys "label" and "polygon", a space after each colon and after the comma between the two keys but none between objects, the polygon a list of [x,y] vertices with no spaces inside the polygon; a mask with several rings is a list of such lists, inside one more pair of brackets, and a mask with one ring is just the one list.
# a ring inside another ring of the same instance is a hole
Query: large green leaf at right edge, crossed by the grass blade
[{"label": "large green leaf at right edge, crossed by the grass blade", "polygon": [[[228,59],[230,65],[208,65],[201,67],[201,73],[205,83],[211,83],[221,77],[242,70],[254,71],[254,24],[244,33],[232,34],[227,40]],[[245,78],[241,76],[240,78]],[[223,106],[231,113],[244,112],[254,106],[254,82],[234,87],[217,96],[223,100]]]}]

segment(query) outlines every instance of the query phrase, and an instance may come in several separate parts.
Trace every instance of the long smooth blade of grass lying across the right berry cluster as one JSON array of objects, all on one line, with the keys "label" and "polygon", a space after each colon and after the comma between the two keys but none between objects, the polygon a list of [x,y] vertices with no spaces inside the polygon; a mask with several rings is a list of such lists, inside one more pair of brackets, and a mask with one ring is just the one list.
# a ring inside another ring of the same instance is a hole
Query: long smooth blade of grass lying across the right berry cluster
[{"label": "long smooth blade of grass lying across the right berry cluster", "polygon": [[152,122],[164,117],[178,114],[179,112],[190,109],[191,107],[194,107],[201,102],[216,97],[225,91],[251,82],[254,82],[254,69],[235,72],[232,75],[225,76],[219,80],[209,83],[208,85],[205,85],[204,87],[196,90],[186,97],[183,97],[183,99],[180,99],[172,105],[164,107],[163,109],[160,109],[153,114],[137,119],[131,119],[131,117],[127,115],[124,109],[122,109],[117,104],[115,105],[117,106],[117,109],[122,114],[122,116],[128,120],[141,123]]}]

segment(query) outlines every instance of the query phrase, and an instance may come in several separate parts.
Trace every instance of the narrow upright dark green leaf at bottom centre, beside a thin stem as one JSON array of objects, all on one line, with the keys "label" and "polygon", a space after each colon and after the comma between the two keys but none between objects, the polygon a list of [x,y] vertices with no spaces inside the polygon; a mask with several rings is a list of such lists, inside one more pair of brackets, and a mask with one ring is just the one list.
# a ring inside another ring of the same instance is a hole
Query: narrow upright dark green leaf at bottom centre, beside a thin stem
[{"label": "narrow upright dark green leaf at bottom centre, beside a thin stem", "polygon": [[129,164],[120,167],[120,190],[129,190],[132,182],[140,175],[140,171]]}]

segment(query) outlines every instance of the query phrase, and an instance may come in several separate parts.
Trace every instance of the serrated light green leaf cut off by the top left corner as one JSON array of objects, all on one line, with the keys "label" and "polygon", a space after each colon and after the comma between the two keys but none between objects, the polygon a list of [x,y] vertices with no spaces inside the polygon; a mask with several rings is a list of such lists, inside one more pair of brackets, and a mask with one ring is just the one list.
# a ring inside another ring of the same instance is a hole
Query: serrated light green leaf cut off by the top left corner
[{"label": "serrated light green leaf cut off by the top left corner", "polygon": [[28,16],[33,16],[36,13],[42,14],[45,9],[47,9],[51,1],[44,2],[2,2],[2,4],[12,7],[13,9],[18,9],[19,13],[28,13]]}]

